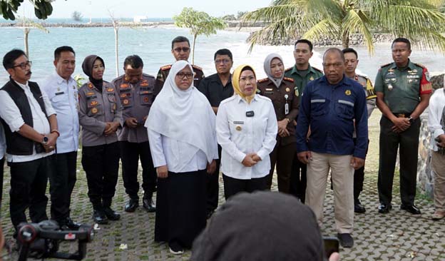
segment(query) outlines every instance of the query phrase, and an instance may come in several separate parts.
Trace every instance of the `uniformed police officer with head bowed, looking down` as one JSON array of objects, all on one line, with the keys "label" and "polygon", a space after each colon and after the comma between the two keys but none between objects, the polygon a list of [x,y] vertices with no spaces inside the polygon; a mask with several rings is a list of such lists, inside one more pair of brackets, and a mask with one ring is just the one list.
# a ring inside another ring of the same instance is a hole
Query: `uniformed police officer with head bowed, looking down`
[{"label": "uniformed police officer with head bowed, looking down", "polygon": [[127,56],[123,62],[125,74],[114,79],[123,107],[123,128],[118,131],[121,148],[123,186],[130,200],[126,212],[134,212],[139,206],[138,165],[142,164],[143,208],[155,212],[152,197],[156,188],[156,170],[148,144],[145,120],[153,102],[155,78],[143,73],[143,61],[137,56]]}]

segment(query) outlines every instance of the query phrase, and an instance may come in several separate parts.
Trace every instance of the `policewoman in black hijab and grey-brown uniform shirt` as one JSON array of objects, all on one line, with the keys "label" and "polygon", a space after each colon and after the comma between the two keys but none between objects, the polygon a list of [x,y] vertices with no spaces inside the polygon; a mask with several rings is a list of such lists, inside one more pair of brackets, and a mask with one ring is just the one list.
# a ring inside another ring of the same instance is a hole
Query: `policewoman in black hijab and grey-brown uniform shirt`
[{"label": "policewoman in black hijab and grey-brown uniform shirt", "polygon": [[79,94],[79,122],[82,126],[82,166],[93,204],[93,220],[107,224],[121,215],[111,209],[119,170],[116,131],[122,126],[122,107],[113,83],[103,81],[105,68],[99,56],[86,56],[83,73],[89,77]]}]

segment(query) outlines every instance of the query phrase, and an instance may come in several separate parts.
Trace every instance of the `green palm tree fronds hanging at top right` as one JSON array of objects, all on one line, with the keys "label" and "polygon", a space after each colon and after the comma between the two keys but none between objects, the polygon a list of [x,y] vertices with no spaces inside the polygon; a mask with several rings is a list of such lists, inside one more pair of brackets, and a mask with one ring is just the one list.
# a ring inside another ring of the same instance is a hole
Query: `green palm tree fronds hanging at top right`
[{"label": "green palm tree fronds hanging at top right", "polygon": [[250,38],[250,50],[264,39],[341,39],[349,46],[351,34],[362,34],[374,52],[372,31],[406,37],[413,44],[445,51],[445,15],[439,0],[275,0],[249,12],[243,22],[265,21],[267,26]]}]

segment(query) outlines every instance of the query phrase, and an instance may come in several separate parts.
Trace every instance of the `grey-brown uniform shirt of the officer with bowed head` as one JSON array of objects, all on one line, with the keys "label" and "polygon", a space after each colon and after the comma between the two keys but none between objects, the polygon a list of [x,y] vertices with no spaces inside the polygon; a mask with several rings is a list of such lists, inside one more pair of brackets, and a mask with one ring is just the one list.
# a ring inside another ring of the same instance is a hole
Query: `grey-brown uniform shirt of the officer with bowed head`
[{"label": "grey-brown uniform shirt of the officer with bowed head", "polygon": [[[123,108],[123,128],[118,131],[118,140],[143,143],[148,141],[147,128],[144,124],[153,103],[155,78],[143,73],[140,81],[135,84],[129,83],[125,78],[123,75],[112,81]],[[125,122],[128,118],[136,118],[138,126],[136,128],[126,126]]]}]

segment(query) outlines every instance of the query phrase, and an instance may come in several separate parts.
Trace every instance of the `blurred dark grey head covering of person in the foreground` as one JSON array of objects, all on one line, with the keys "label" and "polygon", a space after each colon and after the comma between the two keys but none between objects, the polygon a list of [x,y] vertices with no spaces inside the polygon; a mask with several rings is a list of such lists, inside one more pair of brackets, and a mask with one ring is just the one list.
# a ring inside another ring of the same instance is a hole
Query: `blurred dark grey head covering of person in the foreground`
[{"label": "blurred dark grey head covering of person in the foreground", "polygon": [[322,261],[314,213],[282,193],[240,193],[210,218],[193,243],[194,261]]}]

